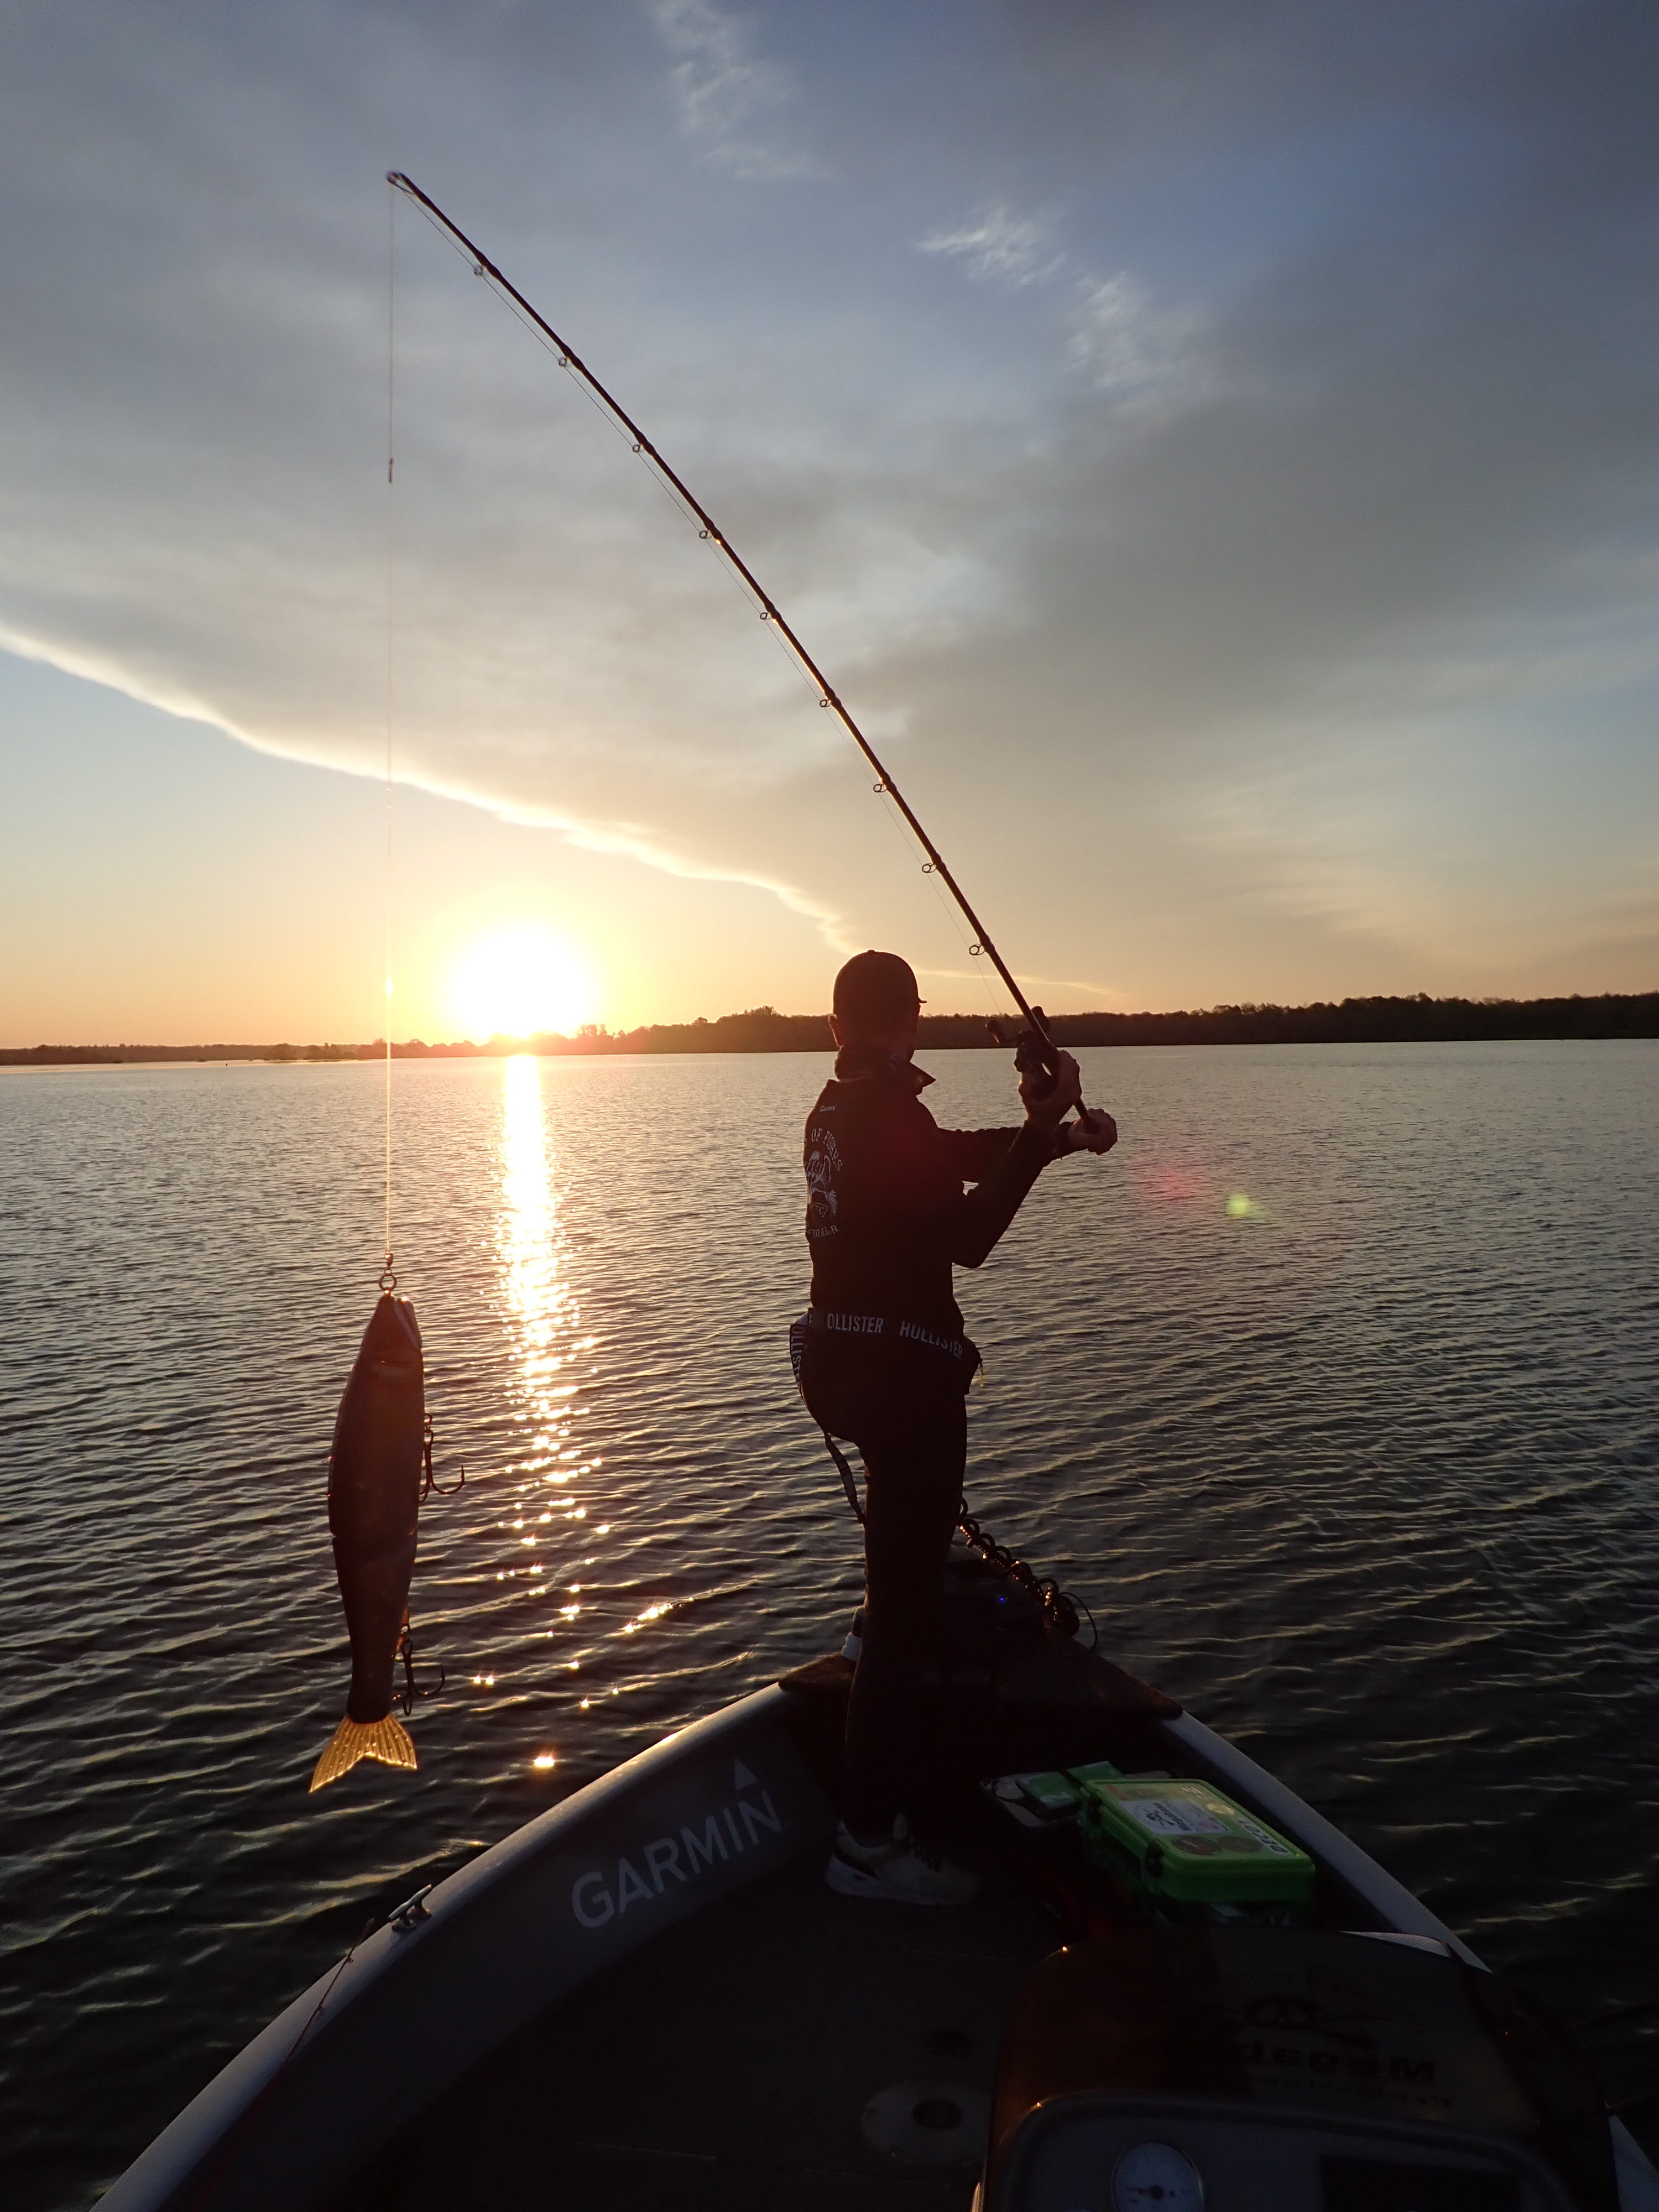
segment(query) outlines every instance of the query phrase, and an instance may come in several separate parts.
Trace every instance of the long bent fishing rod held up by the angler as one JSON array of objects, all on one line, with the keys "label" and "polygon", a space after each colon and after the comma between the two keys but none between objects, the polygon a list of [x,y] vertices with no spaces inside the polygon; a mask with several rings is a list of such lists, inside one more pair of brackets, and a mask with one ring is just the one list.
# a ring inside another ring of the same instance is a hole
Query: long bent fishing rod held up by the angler
[{"label": "long bent fishing rod held up by the angler", "polygon": [[[863,752],[865,761],[869,761],[869,765],[876,770],[876,796],[885,794],[887,799],[894,801],[894,805],[898,807],[898,812],[909,823],[909,830],[916,836],[916,843],[927,854],[927,867],[940,878],[940,883],[945,885],[945,889],[951,894],[951,898],[956,900],[956,905],[962,909],[962,918],[967,920],[969,929],[973,931],[973,942],[969,945],[969,953],[975,953],[975,956],[984,953],[984,958],[991,962],[991,967],[1002,978],[1002,982],[1004,982],[1004,987],[1009,991],[1009,998],[1020,1009],[1020,1015],[1022,1015],[1022,1020],[1026,1022],[1026,1029],[1029,1029],[1029,1040],[1024,1040],[1024,1046],[1022,1046],[1022,1051],[1029,1051],[1029,1057],[1022,1060],[1022,1066],[1029,1066],[1031,1062],[1035,1062],[1035,1066],[1040,1066],[1048,1077],[1055,1077],[1060,1073],[1060,1062],[1055,1057],[1057,1046],[1055,1046],[1053,1035],[1048,1033],[1048,1020],[1046,1020],[1042,1006],[1033,1006],[1026,1000],[1026,995],[1020,989],[1020,984],[1013,980],[1009,962],[1002,958],[1002,953],[991,942],[991,931],[984,927],[984,922],[980,920],[980,916],[967,902],[967,894],[962,891],[962,885],[956,880],[956,876],[951,874],[951,869],[945,865],[945,854],[938,849],[938,845],[927,834],[927,830],[922,830],[920,821],[916,818],[916,812],[914,812],[911,803],[905,799],[905,794],[898,790],[898,785],[894,783],[894,779],[887,774],[887,768],[880,761],[880,757],[876,754],[876,748],[869,743],[869,739],[865,737],[865,732],[852,719],[852,712],[847,710],[845,701],[841,699],[841,695],[836,692],[836,688],[830,684],[830,679],[825,677],[823,668],[818,668],[818,664],[812,659],[812,655],[807,653],[807,648],[801,644],[801,639],[796,637],[792,624],[787,622],[787,617],[779,608],[776,599],[765,591],[765,586],[754,575],[754,571],[743,560],[743,555],[737,551],[737,546],[732,544],[732,540],[726,535],[726,531],[719,529],[719,524],[714,522],[714,518],[710,515],[710,511],[703,507],[703,502],[697,498],[697,493],[690,489],[690,484],[679,476],[679,471],[672,469],[664,460],[664,456],[657,451],[657,447],[650,442],[650,438],[646,438],[646,434],[639,429],[639,425],[628,414],[628,409],[622,405],[622,400],[613,398],[613,394],[606,392],[606,387],[599,383],[599,378],[593,374],[593,369],[586,365],[586,361],[582,361],[582,356],[575,352],[575,347],[566,345],[566,341],[557,334],[557,330],[553,330],[553,325],[546,321],[546,316],[538,314],[535,307],[531,307],[531,303],[524,299],[524,294],[518,290],[518,285],[509,283],[509,279],[502,276],[502,272],[495,268],[495,263],[489,259],[489,254],[467,237],[467,232],[460,228],[460,223],[453,223],[445,215],[445,210],[438,206],[438,201],[429,199],[411,177],[403,175],[400,168],[387,170],[387,179],[385,181],[389,186],[394,186],[398,192],[403,192],[405,199],[411,199],[416,204],[416,208],[420,208],[420,212],[427,217],[427,221],[438,232],[442,232],[458,252],[462,252],[471,261],[473,276],[482,276],[489,283],[493,283],[495,290],[502,294],[502,299],[515,310],[515,314],[520,314],[526,323],[531,323],[533,330],[538,330],[546,338],[546,343],[553,347],[557,365],[562,369],[566,369],[571,376],[575,376],[586,387],[588,396],[597,403],[599,411],[613,422],[615,429],[622,431],[622,436],[628,440],[628,445],[635,449],[635,453],[639,453],[639,458],[644,462],[648,462],[648,467],[657,473],[659,482],[668,489],[668,493],[697,520],[697,535],[706,538],[732,564],[732,568],[737,571],[739,580],[743,582],[743,588],[750,593],[750,597],[759,606],[761,622],[770,622],[772,624],[772,628],[779,633],[779,637],[787,646],[790,657],[794,659],[794,664],[801,668],[801,672],[807,677],[807,681],[818,692],[818,706],[827,708],[836,717],[836,721],[841,723],[841,728],[847,732],[847,737],[854,741],[854,745]],[[995,1022],[991,1024],[991,1033],[998,1037],[998,1042],[1006,1042],[1002,1037],[1002,1033],[998,1031]],[[1084,1121],[1084,1124],[1088,1124],[1088,1108],[1086,1106],[1077,1108],[1077,1119]]]}]

